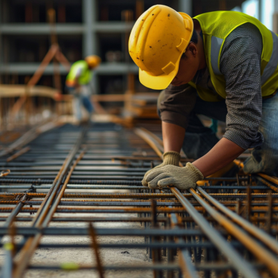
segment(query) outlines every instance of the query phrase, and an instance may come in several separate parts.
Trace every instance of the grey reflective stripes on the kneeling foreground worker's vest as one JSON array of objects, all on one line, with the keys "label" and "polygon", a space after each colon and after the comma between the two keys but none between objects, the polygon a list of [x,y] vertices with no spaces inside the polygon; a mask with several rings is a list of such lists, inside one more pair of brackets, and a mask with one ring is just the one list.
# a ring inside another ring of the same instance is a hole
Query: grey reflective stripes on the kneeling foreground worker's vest
[{"label": "grey reflective stripes on the kneeling foreground worker's vest", "polygon": [[[273,47],[272,54],[268,65],[265,66],[263,70],[263,75],[261,76],[261,85],[263,85],[272,74],[275,73],[278,65],[278,37],[277,35],[270,31],[272,34]],[[223,43],[223,39],[211,36],[211,67],[213,68],[213,73],[215,75],[221,75],[218,61],[220,60],[220,49]]]}]

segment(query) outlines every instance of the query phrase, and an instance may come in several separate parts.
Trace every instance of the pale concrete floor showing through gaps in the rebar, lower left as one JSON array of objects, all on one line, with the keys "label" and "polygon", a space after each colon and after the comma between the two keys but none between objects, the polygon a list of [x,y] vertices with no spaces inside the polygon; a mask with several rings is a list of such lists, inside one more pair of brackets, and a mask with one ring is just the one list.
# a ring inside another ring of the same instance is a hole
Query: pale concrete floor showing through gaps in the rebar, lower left
[{"label": "pale concrete floor showing through gaps in the rebar, lower left", "polygon": [[[26,213],[24,213],[26,215]],[[23,213],[22,213],[23,215]],[[65,214],[56,213],[56,216],[65,216]],[[20,216],[20,214],[19,214]],[[67,214],[67,216],[70,216]],[[72,215],[71,215],[72,216]],[[100,214],[100,213],[83,213],[79,214],[79,216],[83,217],[109,217],[113,216],[113,214]],[[136,217],[134,215],[122,214],[121,217]],[[18,223],[18,226],[28,226],[28,223]],[[88,227],[88,224],[84,222],[52,222],[49,227]],[[102,228],[133,228],[133,229],[143,229],[140,223],[129,223],[129,222],[103,222],[103,223],[95,223],[94,227],[102,227]],[[10,239],[8,236],[3,238],[3,242],[7,242]],[[17,237],[16,241],[19,241],[20,238]],[[143,237],[126,237],[126,236],[98,236],[98,243],[144,243]],[[44,236],[41,240],[41,243],[70,243],[70,244],[90,244],[89,236]],[[123,253],[125,252],[125,253]],[[128,252],[128,253],[126,253]],[[106,265],[133,265],[136,263],[147,263],[152,264],[152,261],[148,259],[147,252],[145,249],[103,249],[100,252],[102,262]],[[3,250],[0,250],[0,263],[3,264]],[[37,249],[33,254],[31,259],[31,264],[51,264],[51,265],[60,265],[61,263],[80,263],[80,264],[92,264],[95,265],[95,254],[93,254],[92,250],[88,249],[76,249],[76,248],[67,248],[67,249]],[[130,277],[130,271],[106,271],[105,277],[122,277],[127,278]],[[42,271],[42,270],[28,270],[24,275],[24,278],[31,277],[99,277],[95,271],[89,270],[79,270],[79,271]],[[132,277],[153,277],[152,271],[133,271]]]}]

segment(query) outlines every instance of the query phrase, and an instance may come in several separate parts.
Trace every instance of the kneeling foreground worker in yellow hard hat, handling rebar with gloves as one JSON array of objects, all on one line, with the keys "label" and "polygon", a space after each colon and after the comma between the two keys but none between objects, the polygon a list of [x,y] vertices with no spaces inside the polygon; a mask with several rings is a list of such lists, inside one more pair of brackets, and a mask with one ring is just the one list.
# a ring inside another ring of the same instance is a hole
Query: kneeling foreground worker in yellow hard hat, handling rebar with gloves
[{"label": "kneeling foreground worker in yellow hard hat, handling rebar with gloves", "polygon": [[[133,26],[129,54],[140,82],[164,89],[163,163],[145,174],[143,186],[195,188],[250,148],[245,173],[278,175],[278,38],[259,20],[234,11],[192,19],[152,6]],[[218,140],[198,115],[226,122],[224,136]],[[177,167],[181,148],[196,161]]]}]

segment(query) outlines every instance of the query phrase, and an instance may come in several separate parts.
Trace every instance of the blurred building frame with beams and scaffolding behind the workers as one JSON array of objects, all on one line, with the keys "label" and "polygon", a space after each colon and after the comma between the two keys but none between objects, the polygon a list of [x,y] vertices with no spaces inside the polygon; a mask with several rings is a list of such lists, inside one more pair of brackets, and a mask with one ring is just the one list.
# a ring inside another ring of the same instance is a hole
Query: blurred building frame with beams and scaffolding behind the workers
[{"label": "blurred building frame with beams and scaffolding behind the workers", "polygon": [[[273,31],[278,29],[278,0],[1,0],[0,84],[29,84],[31,76],[56,40],[60,52],[70,63],[90,54],[101,57],[103,63],[92,80],[97,113],[132,119],[157,119],[158,92],[140,84],[138,68],[127,51],[133,23],[157,3],[191,16],[213,10],[238,10],[257,17]],[[49,11],[54,13],[50,15]],[[35,117],[39,120],[42,115],[48,116],[53,112],[70,114],[69,99],[54,108],[55,93],[62,90],[65,94],[67,68],[58,65],[58,60],[54,58],[54,63],[45,66],[41,74],[35,85],[44,87],[33,88],[33,100],[24,103],[25,110],[31,113],[38,104],[44,104],[47,109],[36,111]],[[45,96],[46,90],[50,95]],[[25,95],[29,94],[22,86],[7,88],[1,85],[2,125],[4,115],[14,111],[15,118],[15,112],[19,112],[19,106],[13,110],[11,107],[20,94],[24,95],[24,91]],[[14,94],[10,95],[11,92]],[[42,95],[47,98],[43,99]],[[13,99],[10,99],[11,96]]]}]

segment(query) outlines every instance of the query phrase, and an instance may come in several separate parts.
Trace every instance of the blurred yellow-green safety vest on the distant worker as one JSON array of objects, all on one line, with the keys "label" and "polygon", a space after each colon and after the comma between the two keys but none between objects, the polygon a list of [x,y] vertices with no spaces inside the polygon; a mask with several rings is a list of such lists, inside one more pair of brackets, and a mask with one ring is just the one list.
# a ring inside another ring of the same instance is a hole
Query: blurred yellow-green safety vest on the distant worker
[{"label": "blurred yellow-green safety vest on the distant worker", "polygon": [[69,74],[67,74],[67,81],[74,81],[79,68],[81,68],[81,74],[78,79],[79,84],[86,85],[90,83],[90,80],[92,79],[92,71],[89,69],[88,64],[85,62],[85,60],[79,60],[72,64],[70,72]]}]

